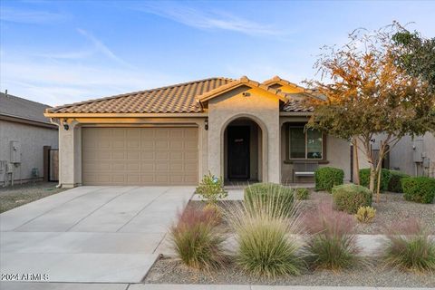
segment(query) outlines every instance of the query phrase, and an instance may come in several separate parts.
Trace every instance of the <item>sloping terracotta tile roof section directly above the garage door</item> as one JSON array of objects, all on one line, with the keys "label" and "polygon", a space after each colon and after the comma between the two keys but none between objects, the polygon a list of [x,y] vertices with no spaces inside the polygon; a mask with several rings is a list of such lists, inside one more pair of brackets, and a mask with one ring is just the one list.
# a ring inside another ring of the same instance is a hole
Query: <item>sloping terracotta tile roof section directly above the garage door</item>
[{"label": "sloping terracotta tile roof section directly above the garage door", "polygon": [[129,92],[102,99],[75,102],[48,109],[56,113],[170,113],[201,112],[198,95],[214,90],[234,80],[210,78],[184,82],[157,89]]}]

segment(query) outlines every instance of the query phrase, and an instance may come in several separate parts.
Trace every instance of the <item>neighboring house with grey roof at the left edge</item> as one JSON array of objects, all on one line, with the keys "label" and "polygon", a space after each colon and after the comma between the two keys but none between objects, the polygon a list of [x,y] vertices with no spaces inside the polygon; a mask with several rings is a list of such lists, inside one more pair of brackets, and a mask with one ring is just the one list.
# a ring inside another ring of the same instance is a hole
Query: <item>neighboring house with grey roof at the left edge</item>
[{"label": "neighboring house with grey roof at the left edge", "polygon": [[43,178],[43,147],[58,147],[57,126],[43,116],[47,108],[0,92],[0,187]]}]

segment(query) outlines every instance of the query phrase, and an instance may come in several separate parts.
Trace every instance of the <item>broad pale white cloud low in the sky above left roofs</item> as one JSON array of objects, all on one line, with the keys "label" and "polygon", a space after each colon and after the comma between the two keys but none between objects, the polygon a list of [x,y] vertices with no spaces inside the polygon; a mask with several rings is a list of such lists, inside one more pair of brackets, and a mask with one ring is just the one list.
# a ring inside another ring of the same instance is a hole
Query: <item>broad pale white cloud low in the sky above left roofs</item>
[{"label": "broad pale white cloud low in the sky above left roofs", "polygon": [[[6,53],[3,53],[6,54]],[[7,55],[0,66],[0,87],[49,105],[61,105],[146,90],[177,82],[171,76],[129,68],[110,68],[41,57]]]}]

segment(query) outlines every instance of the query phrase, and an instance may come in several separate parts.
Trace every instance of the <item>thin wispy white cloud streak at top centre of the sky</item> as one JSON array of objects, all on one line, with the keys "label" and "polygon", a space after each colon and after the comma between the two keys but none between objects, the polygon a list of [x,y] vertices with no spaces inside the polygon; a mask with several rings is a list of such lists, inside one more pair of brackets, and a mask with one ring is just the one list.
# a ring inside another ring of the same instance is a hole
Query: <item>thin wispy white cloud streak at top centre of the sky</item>
[{"label": "thin wispy white cloud streak at top centre of the sky", "polygon": [[249,35],[283,34],[281,31],[268,24],[259,24],[221,11],[200,11],[186,5],[178,5],[172,2],[170,2],[169,5],[167,3],[162,4],[162,2],[158,5],[147,3],[136,5],[133,9],[149,14],[156,14],[179,22],[180,24],[199,29],[221,29]]}]

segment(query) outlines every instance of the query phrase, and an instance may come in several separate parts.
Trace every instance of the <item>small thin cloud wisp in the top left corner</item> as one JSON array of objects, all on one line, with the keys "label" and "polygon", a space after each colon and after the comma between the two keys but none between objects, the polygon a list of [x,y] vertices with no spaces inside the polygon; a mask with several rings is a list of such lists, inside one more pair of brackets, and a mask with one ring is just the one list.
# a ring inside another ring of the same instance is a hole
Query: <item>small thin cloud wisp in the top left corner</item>
[{"label": "small thin cloud wisp in the top left corner", "polygon": [[19,24],[53,24],[60,23],[70,16],[41,10],[18,10],[2,6],[0,20]]}]

